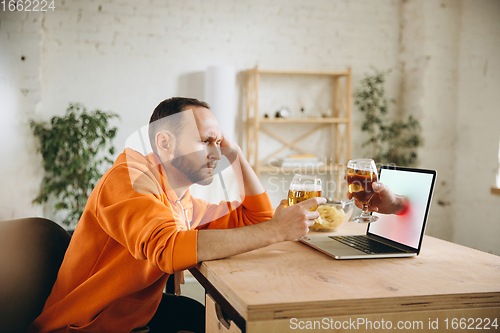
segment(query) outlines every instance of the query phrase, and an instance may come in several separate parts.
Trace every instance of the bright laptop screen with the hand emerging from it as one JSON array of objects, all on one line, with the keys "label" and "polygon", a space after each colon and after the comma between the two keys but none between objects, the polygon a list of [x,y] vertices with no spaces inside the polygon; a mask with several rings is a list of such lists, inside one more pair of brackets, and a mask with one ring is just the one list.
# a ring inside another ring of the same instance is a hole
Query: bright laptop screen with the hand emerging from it
[{"label": "bright laptop screen with the hand emerging from it", "polygon": [[429,214],[436,171],[383,166],[380,182],[394,193],[406,196],[410,207],[404,215],[385,215],[370,223],[368,233],[419,249]]}]

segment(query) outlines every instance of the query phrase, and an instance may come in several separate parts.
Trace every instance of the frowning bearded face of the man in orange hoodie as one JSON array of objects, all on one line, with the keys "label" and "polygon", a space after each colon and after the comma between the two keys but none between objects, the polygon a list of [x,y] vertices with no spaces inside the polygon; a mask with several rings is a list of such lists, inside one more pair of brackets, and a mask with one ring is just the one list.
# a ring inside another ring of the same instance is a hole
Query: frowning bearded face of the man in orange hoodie
[{"label": "frowning bearded face of the man in orange hoodie", "polygon": [[181,171],[192,182],[209,185],[213,181],[213,170],[220,160],[222,132],[215,116],[204,107],[190,106],[193,109],[197,133],[192,126],[185,126],[176,139],[173,167]]}]

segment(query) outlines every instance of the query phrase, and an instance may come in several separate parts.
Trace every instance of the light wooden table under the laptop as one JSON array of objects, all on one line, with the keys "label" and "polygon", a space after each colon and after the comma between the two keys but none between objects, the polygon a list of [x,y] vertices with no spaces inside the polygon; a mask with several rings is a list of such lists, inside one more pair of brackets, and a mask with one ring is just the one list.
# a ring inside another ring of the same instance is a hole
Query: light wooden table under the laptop
[{"label": "light wooden table under the laptop", "polygon": [[335,260],[284,242],[191,273],[207,292],[207,332],[459,332],[488,319],[500,331],[500,257],[430,236],[415,258]]}]

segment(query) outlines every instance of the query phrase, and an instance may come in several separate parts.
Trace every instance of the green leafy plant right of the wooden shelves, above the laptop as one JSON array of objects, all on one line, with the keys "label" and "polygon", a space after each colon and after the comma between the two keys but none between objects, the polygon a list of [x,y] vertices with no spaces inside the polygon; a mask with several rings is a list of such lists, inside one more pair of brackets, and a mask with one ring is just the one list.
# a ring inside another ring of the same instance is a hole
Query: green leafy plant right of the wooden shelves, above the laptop
[{"label": "green leafy plant right of the wooden shelves, above the laptop", "polygon": [[391,120],[387,114],[393,99],[385,97],[384,83],[391,71],[366,74],[354,92],[354,104],[364,113],[361,130],[369,138],[362,147],[369,147],[369,156],[377,163],[413,166],[417,163],[417,148],[422,145],[420,122],[412,115],[407,120]]}]

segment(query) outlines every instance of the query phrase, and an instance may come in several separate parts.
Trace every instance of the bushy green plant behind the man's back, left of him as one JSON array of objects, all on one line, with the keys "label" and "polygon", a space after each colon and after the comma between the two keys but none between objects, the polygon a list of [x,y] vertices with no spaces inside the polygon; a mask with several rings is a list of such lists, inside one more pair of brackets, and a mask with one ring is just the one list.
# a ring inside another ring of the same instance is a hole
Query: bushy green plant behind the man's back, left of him
[{"label": "bushy green plant behind the man's back, left of him", "polygon": [[102,171],[113,163],[108,157],[115,152],[111,141],[117,128],[111,127],[112,118],[119,116],[101,110],[87,112],[76,103],[69,105],[63,117],[52,117],[50,122],[29,121],[40,143],[45,171],[33,202],[42,204],[54,196],[54,209],[67,212],[62,222],[68,226],[78,222]]}]

